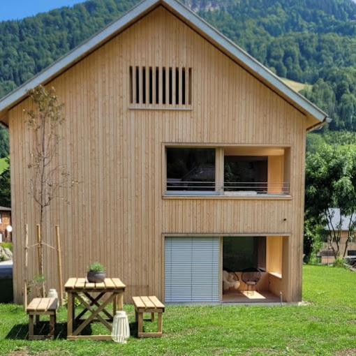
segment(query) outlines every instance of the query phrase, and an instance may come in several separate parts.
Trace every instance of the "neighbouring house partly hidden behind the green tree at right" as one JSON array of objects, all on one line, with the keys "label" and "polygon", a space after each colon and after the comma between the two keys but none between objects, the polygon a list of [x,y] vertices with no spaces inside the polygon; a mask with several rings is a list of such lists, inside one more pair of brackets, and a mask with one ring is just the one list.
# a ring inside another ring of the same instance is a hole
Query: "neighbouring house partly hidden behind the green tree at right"
[{"label": "neighbouring house partly hidden behind the green tree at right", "polygon": [[[329,219],[327,225],[325,226],[325,232],[327,233],[327,235],[329,235],[329,232],[332,232],[333,230],[335,230],[335,232],[337,233],[337,230],[339,230],[339,225],[341,224],[340,252],[342,257],[346,249],[346,242],[348,241],[348,231],[350,229],[350,226],[352,227],[353,225],[355,225],[356,216],[341,216],[340,209],[338,208],[329,209],[329,212],[332,218]],[[336,249],[336,242],[333,241],[332,246],[334,247],[334,249]],[[332,246],[328,242],[325,242],[322,246],[322,249],[318,253],[318,255],[320,255],[321,262],[323,265],[333,263],[335,260]],[[355,232],[351,233],[351,238],[348,242],[345,257],[356,258]]]}]

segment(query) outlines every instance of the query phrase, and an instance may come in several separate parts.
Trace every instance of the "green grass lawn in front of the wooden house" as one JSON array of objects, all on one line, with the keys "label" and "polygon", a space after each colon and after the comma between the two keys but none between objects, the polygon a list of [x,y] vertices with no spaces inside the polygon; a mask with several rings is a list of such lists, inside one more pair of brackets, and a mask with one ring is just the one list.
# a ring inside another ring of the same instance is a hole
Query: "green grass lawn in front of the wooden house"
[{"label": "green grass lawn in front of the wooden house", "polygon": [[[66,311],[55,341],[26,341],[21,306],[0,305],[1,355],[356,355],[356,274],[304,267],[307,306],[168,307],[162,339],[66,341]],[[130,321],[133,309],[126,306]],[[151,329],[154,325],[145,322]],[[134,325],[131,324],[134,329]],[[98,325],[94,326],[97,332]]]}]

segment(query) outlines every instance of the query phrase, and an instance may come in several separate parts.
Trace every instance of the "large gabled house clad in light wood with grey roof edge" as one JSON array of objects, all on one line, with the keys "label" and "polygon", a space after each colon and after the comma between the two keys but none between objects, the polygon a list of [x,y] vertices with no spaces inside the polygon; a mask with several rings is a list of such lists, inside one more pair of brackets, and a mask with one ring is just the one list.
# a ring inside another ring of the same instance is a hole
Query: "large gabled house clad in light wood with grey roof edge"
[{"label": "large gabled house clad in light wood with grey roof edge", "polygon": [[[52,245],[61,227],[66,278],[100,261],[126,301],[219,302],[223,268],[259,267],[259,292],[302,299],[306,133],[327,115],[181,3],[147,0],[0,101],[16,302],[38,222],[24,114],[38,84],[64,101],[59,163],[80,181],[43,227]],[[31,276],[36,251],[29,262]],[[56,266],[45,249],[52,287]]]}]

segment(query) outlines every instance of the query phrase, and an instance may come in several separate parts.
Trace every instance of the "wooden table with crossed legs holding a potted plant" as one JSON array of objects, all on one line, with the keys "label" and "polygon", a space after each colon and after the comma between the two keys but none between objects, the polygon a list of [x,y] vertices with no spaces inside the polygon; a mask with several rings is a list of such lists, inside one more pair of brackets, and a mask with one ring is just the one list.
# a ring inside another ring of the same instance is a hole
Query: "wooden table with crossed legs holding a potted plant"
[{"label": "wooden table with crossed legs holding a potted plant", "polygon": [[[80,333],[94,321],[101,322],[111,333],[114,315],[117,310],[122,310],[124,307],[126,285],[118,278],[106,278],[103,283],[89,283],[84,278],[70,278],[64,288],[68,293],[67,339],[111,340],[111,335],[80,335]],[[83,295],[89,302],[83,298]],[[75,316],[75,299],[84,307],[77,316]],[[105,309],[111,302],[112,313]],[[84,320],[84,314],[87,312],[90,313],[89,317]],[[105,316],[101,316],[101,313]],[[77,328],[73,331],[75,326]]]}]

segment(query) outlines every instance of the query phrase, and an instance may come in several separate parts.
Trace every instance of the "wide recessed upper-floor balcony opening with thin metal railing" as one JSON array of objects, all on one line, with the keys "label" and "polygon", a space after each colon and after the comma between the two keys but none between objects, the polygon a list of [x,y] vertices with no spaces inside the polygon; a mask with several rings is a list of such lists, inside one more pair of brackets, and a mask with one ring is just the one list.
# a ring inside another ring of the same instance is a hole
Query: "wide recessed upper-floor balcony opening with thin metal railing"
[{"label": "wide recessed upper-floor balcony opening with thin metal railing", "polygon": [[168,196],[290,195],[289,148],[167,147],[166,165]]}]

